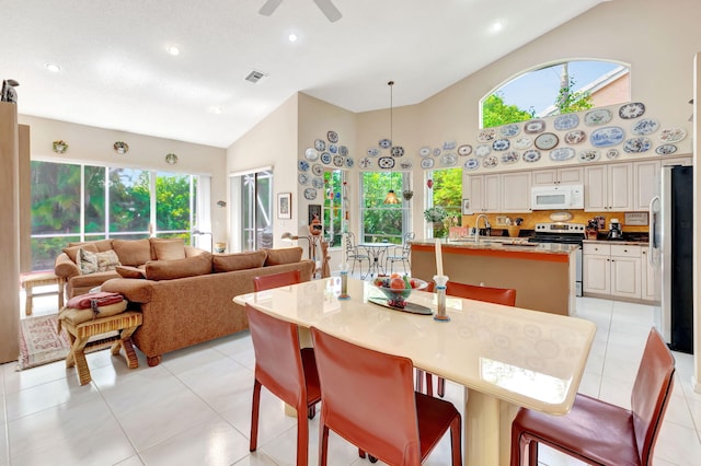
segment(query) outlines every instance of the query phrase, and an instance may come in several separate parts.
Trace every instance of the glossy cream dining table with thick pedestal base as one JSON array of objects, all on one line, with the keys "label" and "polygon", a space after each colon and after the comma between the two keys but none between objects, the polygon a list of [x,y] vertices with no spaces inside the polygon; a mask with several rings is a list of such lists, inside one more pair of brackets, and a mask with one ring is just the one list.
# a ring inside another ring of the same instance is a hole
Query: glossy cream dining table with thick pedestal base
[{"label": "glossy cream dining table with thick pedestal base", "polygon": [[[450,322],[368,302],[381,292],[349,279],[338,300],[331,277],[242,294],[267,314],[317,327],[353,343],[410,358],[414,365],[464,387],[466,465],[507,465],[510,427],[520,407],[564,415],[574,403],[596,327],[591,322],[459,298],[447,299]],[[435,312],[435,295],[409,301]]]}]

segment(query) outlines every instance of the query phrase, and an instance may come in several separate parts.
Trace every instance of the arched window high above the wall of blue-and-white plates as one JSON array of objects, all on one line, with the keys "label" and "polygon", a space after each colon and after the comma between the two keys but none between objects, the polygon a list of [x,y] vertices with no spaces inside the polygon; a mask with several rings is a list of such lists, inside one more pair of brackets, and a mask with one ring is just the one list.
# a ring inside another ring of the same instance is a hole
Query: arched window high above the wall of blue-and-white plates
[{"label": "arched window high above the wall of blue-and-white plates", "polygon": [[630,67],[602,60],[568,60],[525,71],[480,103],[481,127],[527,121],[630,101]]}]

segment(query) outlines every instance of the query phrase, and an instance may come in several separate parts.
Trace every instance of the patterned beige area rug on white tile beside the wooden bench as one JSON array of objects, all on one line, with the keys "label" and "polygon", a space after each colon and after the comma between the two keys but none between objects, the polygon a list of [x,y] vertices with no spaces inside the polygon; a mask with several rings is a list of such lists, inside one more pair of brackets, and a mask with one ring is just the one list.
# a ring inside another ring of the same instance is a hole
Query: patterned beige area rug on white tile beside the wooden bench
[{"label": "patterned beige area rug on white tile beside the wooden bench", "polygon": [[19,371],[66,359],[70,342],[66,330],[58,333],[57,324],[57,314],[21,319]]}]

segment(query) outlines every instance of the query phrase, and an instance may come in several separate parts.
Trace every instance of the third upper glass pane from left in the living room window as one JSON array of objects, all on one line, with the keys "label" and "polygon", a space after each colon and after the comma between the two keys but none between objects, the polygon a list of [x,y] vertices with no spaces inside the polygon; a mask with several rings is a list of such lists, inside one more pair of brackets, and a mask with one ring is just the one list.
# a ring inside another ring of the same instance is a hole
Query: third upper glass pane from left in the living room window
[{"label": "third upper glass pane from left in the living room window", "polygon": [[150,173],[110,168],[110,232],[148,232],[151,212]]}]

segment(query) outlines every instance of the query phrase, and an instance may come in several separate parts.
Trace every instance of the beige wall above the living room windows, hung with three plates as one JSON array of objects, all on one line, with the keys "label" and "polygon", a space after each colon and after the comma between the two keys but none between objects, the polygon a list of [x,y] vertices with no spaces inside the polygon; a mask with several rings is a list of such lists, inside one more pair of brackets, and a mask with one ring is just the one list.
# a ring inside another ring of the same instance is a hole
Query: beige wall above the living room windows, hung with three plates
[{"label": "beige wall above the living room windows, hung with three plates", "polygon": [[[225,199],[226,196],[226,151],[223,149],[27,115],[21,115],[20,123],[31,128],[32,160],[211,175],[214,235],[215,238],[226,237],[226,210],[216,205],[217,200]],[[62,139],[69,145],[64,154],[53,151],[53,142],[58,139]],[[129,144],[129,152],[116,153],[113,148],[116,141]],[[171,152],[177,155],[175,165],[169,165],[165,162],[165,154]]]}]

